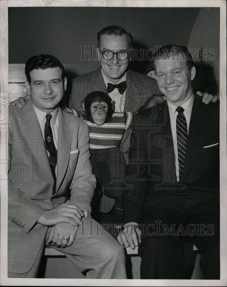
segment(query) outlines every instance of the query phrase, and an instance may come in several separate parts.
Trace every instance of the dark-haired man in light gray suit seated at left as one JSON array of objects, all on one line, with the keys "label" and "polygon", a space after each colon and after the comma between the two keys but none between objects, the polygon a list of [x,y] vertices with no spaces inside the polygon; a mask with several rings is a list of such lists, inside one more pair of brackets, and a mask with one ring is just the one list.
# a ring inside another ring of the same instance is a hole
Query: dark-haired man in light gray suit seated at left
[{"label": "dark-haired man in light gray suit seated at left", "polygon": [[123,248],[90,217],[88,126],[65,111],[64,67],[40,55],[25,73],[30,99],[9,109],[8,277],[35,278],[49,245],[87,278],[125,279]]}]

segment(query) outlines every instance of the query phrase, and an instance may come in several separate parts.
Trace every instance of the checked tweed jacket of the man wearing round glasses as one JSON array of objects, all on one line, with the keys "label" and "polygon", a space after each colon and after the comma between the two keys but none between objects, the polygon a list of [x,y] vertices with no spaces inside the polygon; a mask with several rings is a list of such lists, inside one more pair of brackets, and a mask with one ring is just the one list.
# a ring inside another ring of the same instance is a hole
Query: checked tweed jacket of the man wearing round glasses
[{"label": "checked tweed jacket of the man wearing round glasses", "polygon": [[[124,112],[137,111],[150,96],[160,94],[155,79],[130,69],[127,71],[126,85]],[[101,66],[95,71],[76,77],[72,80],[72,92],[69,106],[82,111],[82,100],[84,100],[87,94],[94,91],[107,93]],[[126,162],[128,162],[130,135],[131,129],[128,129],[121,139],[121,150],[124,153]]]}]

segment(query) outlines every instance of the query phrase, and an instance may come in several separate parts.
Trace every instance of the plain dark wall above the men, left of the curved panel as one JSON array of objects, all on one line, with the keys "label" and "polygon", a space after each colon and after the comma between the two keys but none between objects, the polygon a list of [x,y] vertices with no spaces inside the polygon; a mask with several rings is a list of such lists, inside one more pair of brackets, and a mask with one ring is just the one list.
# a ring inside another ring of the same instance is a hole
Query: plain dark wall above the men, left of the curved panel
[{"label": "plain dark wall above the men, left of the curved panel", "polygon": [[[47,53],[63,64],[74,64],[72,76],[96,69],[98,60],[82,61],[80,46],[97,45],[97,32],[118,25],[131,32],[134,47],[187,45],[200,8],[150,7],[9,7],[9,63],[25,63]],[[88,51],[87,48],[86,51]],[[94,50],[94,57],[96,57]],[[144,73],[149,61],[131,63]]]}]

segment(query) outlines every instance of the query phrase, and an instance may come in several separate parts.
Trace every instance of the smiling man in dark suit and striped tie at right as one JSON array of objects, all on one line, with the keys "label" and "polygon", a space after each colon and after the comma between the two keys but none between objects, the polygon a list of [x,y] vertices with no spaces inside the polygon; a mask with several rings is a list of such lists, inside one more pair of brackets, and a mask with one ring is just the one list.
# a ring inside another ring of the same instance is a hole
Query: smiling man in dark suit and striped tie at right
[{"label": "smiling man in dark suit and striped tie at right", "polygon": [[154,65],[166,101],[134,119],[118,241],[141,243],[142,279],[185,279],[190,236],[205,278],[220,279],[219,103],[204,105],[193,94],[196,71],[185,46],[160,48]]}]

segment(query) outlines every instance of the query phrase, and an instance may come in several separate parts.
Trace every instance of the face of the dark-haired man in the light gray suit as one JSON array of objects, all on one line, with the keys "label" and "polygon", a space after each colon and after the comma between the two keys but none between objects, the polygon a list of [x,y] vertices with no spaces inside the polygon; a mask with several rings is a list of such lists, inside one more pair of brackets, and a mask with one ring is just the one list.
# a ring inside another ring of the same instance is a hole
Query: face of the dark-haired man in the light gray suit
[{"label": "face of the dark-haired man in the light gray suit", "polygon": [[59,67],[30,72],[31,83],[26,81],[25,85],[36,108],[52,113],[59,106],[67,85],[66,77],[63,81],[61,74]]}]

